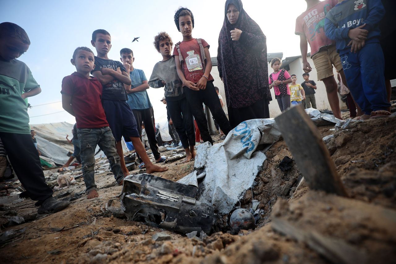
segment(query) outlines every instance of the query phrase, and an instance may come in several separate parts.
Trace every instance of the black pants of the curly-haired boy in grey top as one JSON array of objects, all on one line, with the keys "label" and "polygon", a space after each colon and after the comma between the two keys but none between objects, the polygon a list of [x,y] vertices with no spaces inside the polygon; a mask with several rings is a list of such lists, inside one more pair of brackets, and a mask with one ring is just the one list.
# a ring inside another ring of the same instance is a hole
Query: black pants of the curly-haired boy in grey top
[{"label": "black pants of the curly-haired boy in grey top", "polygon": [[166,103],[183,148],[187,149],[189,146],[195,146],[194,120],[187,99],[166,100]]}]

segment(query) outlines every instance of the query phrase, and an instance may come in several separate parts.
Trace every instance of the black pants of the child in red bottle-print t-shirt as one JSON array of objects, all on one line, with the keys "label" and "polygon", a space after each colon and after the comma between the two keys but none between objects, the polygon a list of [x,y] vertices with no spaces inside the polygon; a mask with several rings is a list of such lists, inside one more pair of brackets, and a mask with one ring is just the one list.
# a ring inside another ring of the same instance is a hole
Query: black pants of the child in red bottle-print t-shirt
[{"label": "black pants of the child in red bottle-print t-shirt", "polygon": [[208,120],[206,120],[202,103],[209,107],[210,112],[224,134],[227,135],[228,132],[230,132],[230,122],[221,107],[219,96],[217,96],[215,86],[213,86],[213,81],[206,83],[205,90],[193,91],[185,86],[184,91],[186,93],[187,101],[190,103],[192,115],[194,115],[194,118],[197,121],[198,128],[204,142],[209,141],[213,144],[213,140],[209,134]]}]

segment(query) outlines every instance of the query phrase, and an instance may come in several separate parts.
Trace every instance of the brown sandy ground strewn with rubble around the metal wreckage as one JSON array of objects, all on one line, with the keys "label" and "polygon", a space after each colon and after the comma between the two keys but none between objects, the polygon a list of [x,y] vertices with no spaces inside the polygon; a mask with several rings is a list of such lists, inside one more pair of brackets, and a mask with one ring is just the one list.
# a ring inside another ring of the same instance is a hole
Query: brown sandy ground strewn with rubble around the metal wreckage
[{"label": "brown sandy ground strewn with rubble around the metal wreckage", "polygon": [[[3,224],[3,234],[13,230],[15,235],[0,244],[2,262],[395,263],[396,117],[354,123],[339,132],[332,128],[322,126],[319,131],[322,136],[334,134],[327,148],[348,198],[310,191],[304,183],[297,187],[302,178],[297,165],[286,172],[278,166],[284,156],[293,157],[280,140],[265,153],[257,185],[241,201],[244,208],[251,207],[252,199],[260,202],[264,214],[256,229],[188,239],[105,214],[106,203],[118,199],[122,187],[103,169],[95,175],[99,197],[88,200],[84,194],[55,214],[37,215],[29,199],[3,202],[0,223],[15,215],[26,223],[5,228]],[[193,161],[180,161],[154,175],[176,181],[192,172]],[[54,196],[73,197],[84,189],[80,178]],[[171,240],[154,241],[158,232],[169,234]]]}]

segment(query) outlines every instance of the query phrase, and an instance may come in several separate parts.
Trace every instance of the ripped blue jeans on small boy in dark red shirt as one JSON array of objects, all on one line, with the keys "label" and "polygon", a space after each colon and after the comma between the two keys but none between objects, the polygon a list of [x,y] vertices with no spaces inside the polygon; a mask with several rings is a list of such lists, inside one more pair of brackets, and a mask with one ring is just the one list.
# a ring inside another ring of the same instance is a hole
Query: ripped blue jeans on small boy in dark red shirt
[{"label": "ripped blue jeans on small boy in dark red shirt", "polygon": [[111,172],[119,184],[124,179],[120,166],[120,156],[116,151],[116,141],[108,126],[102,128],[78,128],[78,141],[80,142],[80,158],[82,173],[86,186],[86,193],[95,189],[95,149],[99,145],[110,162]]}]

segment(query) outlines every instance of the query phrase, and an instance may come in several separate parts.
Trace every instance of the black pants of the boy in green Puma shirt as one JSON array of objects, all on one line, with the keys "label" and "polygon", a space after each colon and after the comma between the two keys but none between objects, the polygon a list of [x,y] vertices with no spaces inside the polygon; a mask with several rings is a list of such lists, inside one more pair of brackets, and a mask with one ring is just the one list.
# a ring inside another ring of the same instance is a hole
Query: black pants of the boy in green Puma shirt
[{"label": "black pants of the boy in green Puma shirt", "polygon": [[19,181],[25,187],[29,197],[38,201],[36,205],[40,205],[52,196],[53,191],[46,184],[32,136],[0,132],[0,138]]}]

